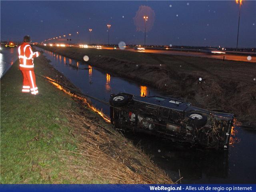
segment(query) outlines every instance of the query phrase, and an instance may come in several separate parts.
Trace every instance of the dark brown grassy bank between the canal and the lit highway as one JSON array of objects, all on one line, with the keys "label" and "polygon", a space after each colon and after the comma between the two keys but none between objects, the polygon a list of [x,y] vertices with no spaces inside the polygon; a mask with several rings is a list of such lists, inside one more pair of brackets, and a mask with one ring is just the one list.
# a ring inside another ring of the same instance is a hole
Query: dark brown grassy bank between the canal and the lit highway
[{"label": "dark brown grassy bank between the canal and the lit highway", "polygon": [[88,64],[108,73],[181,96],[198,107],[234,113],[244,125],[256,127],[254,63],[95,48],[41,47],[80,61],[88,55]]}]

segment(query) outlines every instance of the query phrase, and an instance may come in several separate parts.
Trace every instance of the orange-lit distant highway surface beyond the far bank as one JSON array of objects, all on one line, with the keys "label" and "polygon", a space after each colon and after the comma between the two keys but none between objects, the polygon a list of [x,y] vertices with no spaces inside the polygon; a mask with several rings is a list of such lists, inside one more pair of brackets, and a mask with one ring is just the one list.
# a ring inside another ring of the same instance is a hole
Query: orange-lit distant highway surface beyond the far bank
[{"label": "orange-lit distant highway surface beyond the far bank", "polygon": [[[104,46],[102,46],[102,49],[113,50],[113,48],[104,47]],[[255,56],[252,56],[252,59],[248,60],[247,56],[233,55],[233,54],[214,54],[214,55],[211,55],[211,54],[206,54],[206,53],[202,53],[202,52],[185,52],[185,51],[154,50],[154,49],[134,50],[133,48],[126,48],[125,50],[126,51],[133,51],[133,52],[145,52],[145,53],[155,53],[155,54],[204,57],[204,58],[214,58],[214,59],[223,59],[223,56],[225,56],[225,60],[245,61],[245,62],[255,62],[256,63],[256,57]]]}]

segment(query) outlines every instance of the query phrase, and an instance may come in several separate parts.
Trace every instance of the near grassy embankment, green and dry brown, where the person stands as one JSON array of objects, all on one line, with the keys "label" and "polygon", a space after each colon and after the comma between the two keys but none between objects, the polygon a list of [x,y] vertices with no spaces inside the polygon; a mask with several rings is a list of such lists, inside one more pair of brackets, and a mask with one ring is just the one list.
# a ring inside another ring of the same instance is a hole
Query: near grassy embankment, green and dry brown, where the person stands
[{"label": "near grassy embankment, green and dry brown, where the person stands", "polygon": [[18,62],[1,80],[1,184],[171,183],[86,104],[42,78],[72,86],[46,58],[35,63],[42,96],[20,92]]}]

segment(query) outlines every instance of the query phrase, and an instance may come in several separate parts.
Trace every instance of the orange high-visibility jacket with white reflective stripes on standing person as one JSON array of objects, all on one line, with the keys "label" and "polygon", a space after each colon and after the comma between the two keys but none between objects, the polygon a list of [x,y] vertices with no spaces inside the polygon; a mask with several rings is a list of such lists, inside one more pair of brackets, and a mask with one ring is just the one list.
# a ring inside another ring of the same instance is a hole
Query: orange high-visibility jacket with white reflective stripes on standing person
[{"label": "orange high-visibility jacket with white reflective stripes on standing person", "polygon": [[38,57],[38,52],[32,52],[30,44],[23,42],[19,48],[20,70],[32,71],[34,70],[34,58]]}]

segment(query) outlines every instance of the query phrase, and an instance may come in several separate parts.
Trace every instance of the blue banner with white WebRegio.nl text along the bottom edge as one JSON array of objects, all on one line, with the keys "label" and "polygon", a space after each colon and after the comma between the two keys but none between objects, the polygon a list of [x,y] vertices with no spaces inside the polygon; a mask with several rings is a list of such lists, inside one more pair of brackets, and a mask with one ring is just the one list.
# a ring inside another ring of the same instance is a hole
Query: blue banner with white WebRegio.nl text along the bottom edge
[{"label": "blue banner with white WebRegio.nl text along the bottom edge", "polygon": [[1,184],[1,192],[256,192],[256,184]]}]

